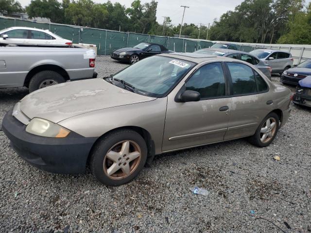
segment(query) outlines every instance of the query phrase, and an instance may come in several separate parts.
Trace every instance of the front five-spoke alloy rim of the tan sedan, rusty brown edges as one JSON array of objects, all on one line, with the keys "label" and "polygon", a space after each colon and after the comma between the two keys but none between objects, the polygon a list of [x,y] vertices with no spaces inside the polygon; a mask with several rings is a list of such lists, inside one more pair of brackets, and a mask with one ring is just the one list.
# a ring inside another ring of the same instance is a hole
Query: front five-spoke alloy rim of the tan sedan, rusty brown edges
[{"label": "front five-spoke alloy rim of the tan sedan, rusty brown edges", "polygon": [[121,141],[111,147],[104,157],[104,173],[114,180],[121,180],[138,167],[141,150],[134,141]]}]

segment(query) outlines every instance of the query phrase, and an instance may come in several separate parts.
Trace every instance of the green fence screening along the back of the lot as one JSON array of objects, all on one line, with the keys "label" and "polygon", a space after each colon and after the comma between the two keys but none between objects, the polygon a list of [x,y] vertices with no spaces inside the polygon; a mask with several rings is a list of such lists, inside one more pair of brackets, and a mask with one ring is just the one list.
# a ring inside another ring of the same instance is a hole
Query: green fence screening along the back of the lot
[{"label": "green fence screening along the back of the lot", "polygon": [[[208,41],[138,33],[124,33],[54,23],[37,23],[31,20],[0,17],[0,30],[14,26],[50,30],[52,33],[55,33],[64,39],[71,40],[75,44],[94,44],[97,47],[97,54],[100,55],[109,55],[114,50],[125,47],[134,47],[142,42],[157,43],[176,52],[193,52],[213,45],[212,42]],[[241,50],[251,50],[250,46],[242,47]]]}]

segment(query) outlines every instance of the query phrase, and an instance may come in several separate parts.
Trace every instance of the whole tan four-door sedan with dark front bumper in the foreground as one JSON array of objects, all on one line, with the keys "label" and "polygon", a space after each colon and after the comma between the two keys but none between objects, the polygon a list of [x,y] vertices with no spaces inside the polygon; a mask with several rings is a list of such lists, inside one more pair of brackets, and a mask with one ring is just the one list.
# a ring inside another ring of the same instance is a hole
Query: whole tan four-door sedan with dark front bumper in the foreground
[{"label": "whole tan four-door sedan with dark front bumper in the foreground", "polygon": [[268,146],[290,115],[291,91],[236,59],[170,53],[104,79],[37,90],[4,117],[17,154],[55,173],[90,167],[121,185],[156,154],[248,137]]}]

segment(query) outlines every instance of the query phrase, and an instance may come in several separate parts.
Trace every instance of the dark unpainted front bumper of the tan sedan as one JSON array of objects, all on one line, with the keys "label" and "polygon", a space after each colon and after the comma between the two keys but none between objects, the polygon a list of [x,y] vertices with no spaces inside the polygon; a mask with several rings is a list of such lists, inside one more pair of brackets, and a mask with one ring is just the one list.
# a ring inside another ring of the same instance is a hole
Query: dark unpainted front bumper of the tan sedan
[{"label": "dark unpainted front bumper of the tan sedan", "polygon": [[97,139],[74,132],[66,138],[27,133],[26,125],[12,116],[12,110],[4,116],[2,129],[22,159],[39,169],[61,174],[84,173],[88,154]]}]

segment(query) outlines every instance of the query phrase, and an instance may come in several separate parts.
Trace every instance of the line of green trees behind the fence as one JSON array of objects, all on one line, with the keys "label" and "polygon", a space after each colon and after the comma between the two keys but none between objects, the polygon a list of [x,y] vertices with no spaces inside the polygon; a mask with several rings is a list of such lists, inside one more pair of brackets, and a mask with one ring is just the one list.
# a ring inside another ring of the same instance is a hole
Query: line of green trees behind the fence
[{"label": "line of green trees behind the fence", "polygon": [[[134,0],[126,8],[119,2],[92,0],[32,0],[25,8],[16,0],[0,0],[0,12],[25,12],[54,23],[72,24],[123,32],[173,36],[180,24],[170,17],[156,21],[157,2]],[[207,25],[185,23],[182,35],[207,38]],[[246,43],[311,44],[311,3],[305,0],[244,0],[211,23],[208,39]]]}]

